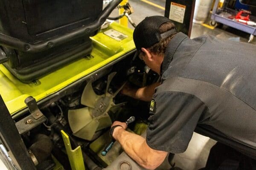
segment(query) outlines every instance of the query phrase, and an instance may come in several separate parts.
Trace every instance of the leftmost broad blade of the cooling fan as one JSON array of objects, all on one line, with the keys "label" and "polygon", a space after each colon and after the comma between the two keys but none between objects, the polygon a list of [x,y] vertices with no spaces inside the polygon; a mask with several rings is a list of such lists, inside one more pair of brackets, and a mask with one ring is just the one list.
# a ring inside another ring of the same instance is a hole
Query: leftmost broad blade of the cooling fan
[{"label": "leftmost broad blade of the cooling fan", "polygon": [[77,133],[92,120],[88,107],[68,111],[68,122],[73,133]]}]

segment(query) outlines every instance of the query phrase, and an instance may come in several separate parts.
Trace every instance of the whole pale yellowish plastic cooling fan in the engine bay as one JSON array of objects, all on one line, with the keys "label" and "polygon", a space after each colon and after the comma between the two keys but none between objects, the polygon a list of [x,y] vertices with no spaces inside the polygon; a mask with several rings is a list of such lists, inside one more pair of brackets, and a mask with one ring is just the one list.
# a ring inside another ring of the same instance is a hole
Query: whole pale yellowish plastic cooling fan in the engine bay
[{"label": "whole pale yellowish plastic cooling fan in the engine bay", "polygon": [[108,111],[115,113],[124,103],[115,104],[113,98],[123,88],[122,85],[114,94],[108,92],[111,80],[115,76],[116,72],[108,75],[108,82],[106,92],[103,95],[97,95],[93,91],[92,82],[89,81],[84,88],[81,96],[81,104],[87,107],[69,110],[68,111],[68,122],[73,135],[86,139],[92,140],[93,135],[98,130],[102,130],[112,125]]}]

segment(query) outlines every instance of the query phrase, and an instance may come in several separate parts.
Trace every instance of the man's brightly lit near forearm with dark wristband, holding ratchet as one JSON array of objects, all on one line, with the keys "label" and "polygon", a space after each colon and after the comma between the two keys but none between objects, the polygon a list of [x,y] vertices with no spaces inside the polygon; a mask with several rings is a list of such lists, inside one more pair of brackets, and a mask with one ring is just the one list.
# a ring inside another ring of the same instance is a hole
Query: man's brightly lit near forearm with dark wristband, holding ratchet
[{"label": "man's brightly lit near forearm with dark wristband, holding ratchet", "polygon": [[142,136],[126,131],[125,123],[116,121],[112,126],[114,125],[122,127],[114,129],[113,138],[122,145],[125,152],[134,161],[149,170],[154,170],[163,163],[167,152],[151,149]]}]

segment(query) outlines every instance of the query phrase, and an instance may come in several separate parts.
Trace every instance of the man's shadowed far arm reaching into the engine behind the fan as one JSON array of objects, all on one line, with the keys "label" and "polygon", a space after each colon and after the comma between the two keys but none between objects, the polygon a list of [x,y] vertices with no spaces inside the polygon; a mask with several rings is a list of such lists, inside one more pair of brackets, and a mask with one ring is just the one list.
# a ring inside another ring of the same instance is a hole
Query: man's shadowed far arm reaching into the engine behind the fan
[{"label": "man's shadowed far arm reaching into the engine behind the fan", "polygon": [[131,88],[130,86],[126,85],[122,89],[122,94],[149,102],[154,94],[154,89],[159,85],[160,82],[153,83],[143,88]]}]

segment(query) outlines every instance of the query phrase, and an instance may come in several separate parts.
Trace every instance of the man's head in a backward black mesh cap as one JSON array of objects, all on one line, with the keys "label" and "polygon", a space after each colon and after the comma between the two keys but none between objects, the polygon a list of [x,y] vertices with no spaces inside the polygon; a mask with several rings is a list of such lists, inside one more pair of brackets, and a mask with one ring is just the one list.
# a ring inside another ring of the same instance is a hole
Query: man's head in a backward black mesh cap
[{"label": "man's head in a backward black mesh cap", "polygon": [[160,73],[166,47],[176,34],[175,25],[166,17],[146,17],[134,29],[137,54],[153,71]]}]

